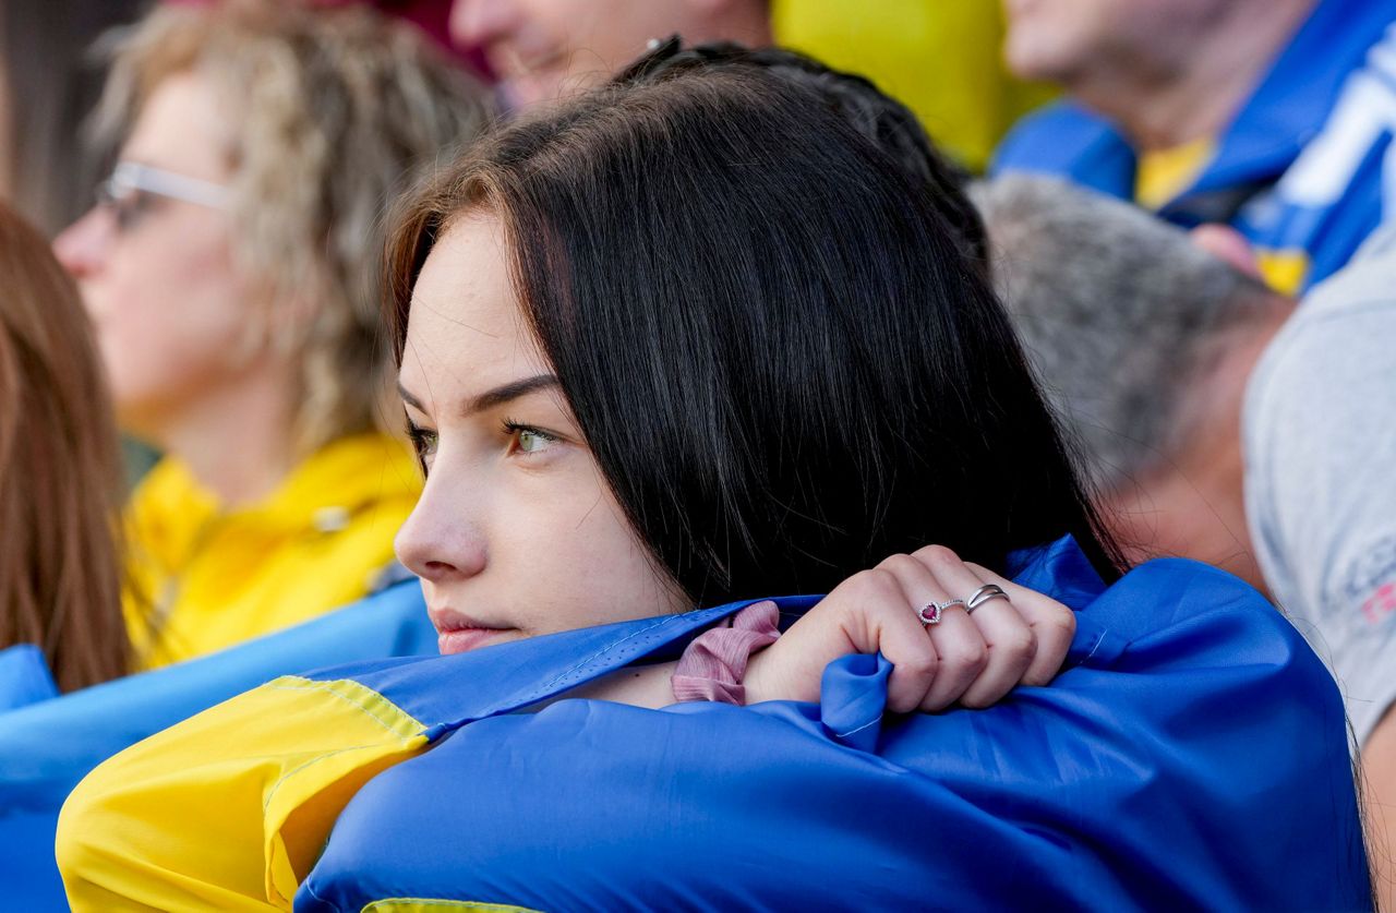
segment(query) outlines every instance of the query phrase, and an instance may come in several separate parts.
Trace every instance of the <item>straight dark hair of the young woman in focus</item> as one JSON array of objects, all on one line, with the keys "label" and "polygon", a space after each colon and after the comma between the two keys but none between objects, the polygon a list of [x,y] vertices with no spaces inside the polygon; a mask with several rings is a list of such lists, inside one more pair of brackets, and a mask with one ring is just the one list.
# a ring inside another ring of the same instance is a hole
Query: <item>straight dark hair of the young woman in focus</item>
[{"label": "straight dark hair of the young woman in focus", "polygon": [[618,503],[695,603],[824,592],[933,542],[1002,567],[1068,532],[1114,575],[981,271],[818,92],[676,68],[501,127],[389,235],[399,360],[422,264],[479,208]]}]

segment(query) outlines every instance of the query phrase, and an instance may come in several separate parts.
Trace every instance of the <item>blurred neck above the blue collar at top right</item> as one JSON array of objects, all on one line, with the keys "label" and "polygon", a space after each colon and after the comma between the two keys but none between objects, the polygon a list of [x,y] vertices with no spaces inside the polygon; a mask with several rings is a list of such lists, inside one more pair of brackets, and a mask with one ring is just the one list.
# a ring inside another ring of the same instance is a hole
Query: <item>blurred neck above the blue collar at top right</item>
[{"label": "blurred neck above the blue collar at top right", "polygon": [[1173,61],[1141,64],[1138,49],[1093,67],[1068,88],[1114,120],[1139,151],[1222,133],[1318,0],[1226,0],[1189,29]]}]

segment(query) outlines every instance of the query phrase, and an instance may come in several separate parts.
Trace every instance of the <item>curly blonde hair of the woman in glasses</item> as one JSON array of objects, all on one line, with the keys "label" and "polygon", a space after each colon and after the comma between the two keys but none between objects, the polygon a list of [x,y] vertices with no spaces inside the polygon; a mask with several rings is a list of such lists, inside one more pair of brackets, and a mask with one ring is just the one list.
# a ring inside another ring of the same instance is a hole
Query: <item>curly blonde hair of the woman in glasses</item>
[{"label": "curly blonde hair of the woman in glasses", "polygon": [[[163,6],[116,34],[94,119],[114,149],[165,78],[209,81],[233,126],[235,257],[254,345],[302,356],[297,452],[383,424],[383,214],[489,120],[487,92],[412,25],[364,7]],[[304,307],[303,321],[274,309]]]}]

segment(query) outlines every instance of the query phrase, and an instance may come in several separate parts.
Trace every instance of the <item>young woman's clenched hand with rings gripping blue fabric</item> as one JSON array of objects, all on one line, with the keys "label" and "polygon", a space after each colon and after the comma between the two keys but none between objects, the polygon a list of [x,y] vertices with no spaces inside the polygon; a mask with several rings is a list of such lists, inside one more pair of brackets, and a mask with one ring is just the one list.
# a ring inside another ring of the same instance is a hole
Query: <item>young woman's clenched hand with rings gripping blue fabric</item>
[{"label": "young woman's clenched hand with rings gripping blue fabric", "polygon": [[[953,604],[923,625],[931,603],[969,602],[986,584],[1008,599]],[[747,667],[747,704],[818,701],[824,667],[849,653],[881,651],[893,670],[888,709],[988,706],[1019,684],[1041,685],[1061,669],[1076,632],[1072,611],[944,546],[895,554],[843,581]]]}]

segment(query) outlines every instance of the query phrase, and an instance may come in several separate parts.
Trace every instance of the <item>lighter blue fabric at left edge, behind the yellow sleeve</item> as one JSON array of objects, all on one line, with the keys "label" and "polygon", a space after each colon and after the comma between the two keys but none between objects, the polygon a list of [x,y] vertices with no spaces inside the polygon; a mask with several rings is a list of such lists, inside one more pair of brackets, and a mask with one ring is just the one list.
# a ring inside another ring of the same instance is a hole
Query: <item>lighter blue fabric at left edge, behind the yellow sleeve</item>
[{"label": "lighter blue fabric at left edge, behind the yellow sleeve", "polygon": [[[436,653],[413,579],[202,659],[0,713],[0,885],[14,909],[63,909],[53,836],[63,800],[106,758],[242,691],[309,666]],[[34,681],[34,670],[24,681]],[[0,680],[0,685],[4,681]],[[6,692],[7,694],[7,692]],[[3,697],[3,694],[0,694]]]}]

